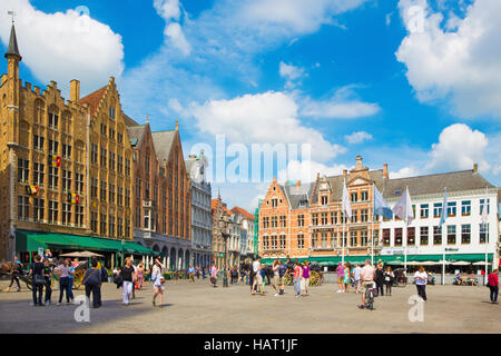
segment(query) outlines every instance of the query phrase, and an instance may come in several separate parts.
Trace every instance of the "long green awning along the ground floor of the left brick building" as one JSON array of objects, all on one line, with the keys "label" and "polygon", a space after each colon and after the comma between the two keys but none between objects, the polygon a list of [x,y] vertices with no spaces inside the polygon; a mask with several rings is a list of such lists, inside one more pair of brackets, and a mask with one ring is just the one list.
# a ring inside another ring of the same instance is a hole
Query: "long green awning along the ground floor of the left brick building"
[{"label": "long green awning along the ground floor of the left brick building", "polygon": [[[90,251],[119,253],[121,240],[91,236],[78,236],[55,233],[16,231],[16,250],[37,251],[39,248],[85,249]],[[156,256],[158,253],[134,241],[124,241],[124,253]]]}]

